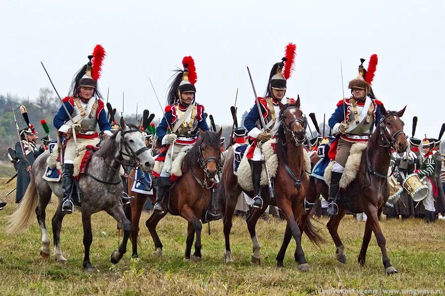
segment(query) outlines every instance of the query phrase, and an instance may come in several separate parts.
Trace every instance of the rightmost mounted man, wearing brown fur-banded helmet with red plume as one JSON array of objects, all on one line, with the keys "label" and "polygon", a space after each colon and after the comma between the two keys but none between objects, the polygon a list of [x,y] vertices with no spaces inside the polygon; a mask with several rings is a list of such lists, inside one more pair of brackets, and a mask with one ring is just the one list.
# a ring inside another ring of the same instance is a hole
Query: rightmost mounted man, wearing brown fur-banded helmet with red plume
[{"label": "rightmost mounted man, wearing brown fur-banded helmet with red plume", "polygon": [[[366,71],[363,67],[364,59],[358,67],[358,76],[349,82],[351,97],[340,100],[337,109],[329,119],[329,127],[337,136],[331,145],[329,157],[334,160],[331,184],[329,186],[329,205],[327,214],[338,214],[335,203],[339,191],[340,178],[345,170],[346,161],[351,147],[355,143],[367,143],[374,126],[377,126],[382,114],[382,103],[375,99],[371,89],[371,82],[377,65],[377,56],[371,56],[370,67]],[[370,69],[372,69],[370,71]],[[367,76],[367,77],[366,77]]]}]

